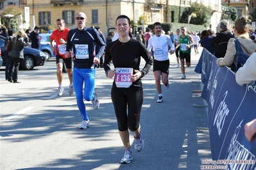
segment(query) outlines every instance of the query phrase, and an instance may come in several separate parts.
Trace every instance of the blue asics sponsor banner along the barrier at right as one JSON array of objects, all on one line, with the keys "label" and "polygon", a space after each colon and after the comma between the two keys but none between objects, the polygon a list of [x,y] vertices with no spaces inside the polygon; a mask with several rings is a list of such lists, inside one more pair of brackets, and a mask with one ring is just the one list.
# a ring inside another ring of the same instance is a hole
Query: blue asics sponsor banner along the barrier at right
[{"label": "blue asics sponsor banner along the barrier at right", "polygon": [[244,124],[256,118],[256,91],[248,85],[239,86],[234,72],[219,67],[216,57],[208,59],[203,61],[206,72],[201,97],[209,105],[212,160],[227,169],[255,169],[256,141],[246,139]]}]

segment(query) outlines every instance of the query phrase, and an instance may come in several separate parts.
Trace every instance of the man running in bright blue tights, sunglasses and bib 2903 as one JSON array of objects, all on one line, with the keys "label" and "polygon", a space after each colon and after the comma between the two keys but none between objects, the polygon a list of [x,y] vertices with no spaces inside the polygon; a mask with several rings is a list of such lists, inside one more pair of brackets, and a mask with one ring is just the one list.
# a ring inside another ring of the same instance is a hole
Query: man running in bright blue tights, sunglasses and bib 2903
[{"label": "man running in bright blue tights, sunglasses and bib 2903", "polygon": [[[81,113],[83,121],[80,128],[90,127],[89,117],[86,112],[83,98],[92,102],[94,109],[99,108],[99,100],[94,90],[95,86],[95,65],[99,64],[99,58],[102,56],[105,43],[99,36],[96,29],[85,26],[87,15],[84,12],[78,12],[75,15],[77,28],[71,29],[67,35],[67,46],[65,57],[73,56],[73,84],[76,91],[76,102]],[[94,47],[99,44],[98,54],[94,54]],[[85,84],[83,91],[83,84]]]}]

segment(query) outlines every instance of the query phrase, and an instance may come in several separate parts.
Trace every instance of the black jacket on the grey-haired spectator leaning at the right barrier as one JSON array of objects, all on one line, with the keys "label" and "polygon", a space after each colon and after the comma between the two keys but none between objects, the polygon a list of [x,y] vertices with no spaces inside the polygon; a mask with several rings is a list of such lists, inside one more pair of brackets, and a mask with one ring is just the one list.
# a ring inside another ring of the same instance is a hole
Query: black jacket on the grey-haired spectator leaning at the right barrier
[{"label": "black jacket on the grey-haired spectator leaning at the right barrier", "polygon": [[225,30],[218,33],[214,38],[212,38],[212,40],[210,40],[210,43],[215,45],[216,58],[224,58],[228,47],[228,40],[230,38],[234,38],[234,35],[232,35],[230,31]]}]

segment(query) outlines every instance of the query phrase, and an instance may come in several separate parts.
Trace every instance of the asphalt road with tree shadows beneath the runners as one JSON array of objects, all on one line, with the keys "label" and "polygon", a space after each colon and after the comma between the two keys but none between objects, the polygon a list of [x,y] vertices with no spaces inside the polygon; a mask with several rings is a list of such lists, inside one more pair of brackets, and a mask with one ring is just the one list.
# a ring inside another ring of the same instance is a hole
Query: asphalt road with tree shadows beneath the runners
[{"label": "asphalt road with tree shadows beneath the runners", "polygon": [[152,69],[142,79],[145,145],[141,152],[135,151],[130,134],[130,164],[120,164],[124,148],[110,98],[113,79],[107,79],[102,68],[96,70],[99,109],[85,101],[90,128],[80,130],[81,115],[75,95],[68,94],[67,73],[64,95],[56,95],[55,61],[20,71],[21,84],[7,82],[1,67],[0,169],[200,169],[202,160],[211,160],[207,109],[194,107],[204,104],[196,93],[203,84],[194,72],[200,54],[192,49],[185,80],[176,68],[176,56],[169,58],[170,87],[162,86],[162,104],[156,102]]}]

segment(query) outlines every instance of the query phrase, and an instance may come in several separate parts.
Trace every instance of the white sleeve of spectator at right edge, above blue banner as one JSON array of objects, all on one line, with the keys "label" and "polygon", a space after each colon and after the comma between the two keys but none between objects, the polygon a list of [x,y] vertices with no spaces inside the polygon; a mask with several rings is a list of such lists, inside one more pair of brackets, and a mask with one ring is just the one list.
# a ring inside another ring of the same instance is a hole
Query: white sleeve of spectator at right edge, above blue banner
[{"label": "white sleeve of spectator at right edge, above blue banner", "polygon": [[243,67],[237,70],[235,80],[240,86],[256,80],[256,52],[247,59]]}]

